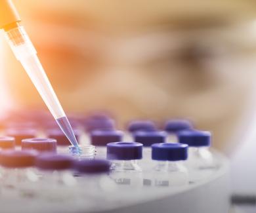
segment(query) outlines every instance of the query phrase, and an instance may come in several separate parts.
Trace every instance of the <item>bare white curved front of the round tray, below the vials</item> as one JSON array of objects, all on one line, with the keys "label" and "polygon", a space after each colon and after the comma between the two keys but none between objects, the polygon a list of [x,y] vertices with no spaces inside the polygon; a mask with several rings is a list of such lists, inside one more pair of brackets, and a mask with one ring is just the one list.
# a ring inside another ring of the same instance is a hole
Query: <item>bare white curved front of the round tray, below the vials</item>
[{"label": "bare white curved front of the round tray, below the vials", "polygon": [[[47,201],[36,197],[1,195],[3,212],[145,212],[145,213],[226,213],[229,207],[228,163],[219,153],[214,153],[219,168],[211,176],[195,184],[182,187],[123,187],[115,191],[100,192],[86,185],[84,195],[63,201]],[[89,190],[89,191],[87,191]],[[92,193],[90,193],[92,191]],[[75,191],[72,191],[74,195]]]}]

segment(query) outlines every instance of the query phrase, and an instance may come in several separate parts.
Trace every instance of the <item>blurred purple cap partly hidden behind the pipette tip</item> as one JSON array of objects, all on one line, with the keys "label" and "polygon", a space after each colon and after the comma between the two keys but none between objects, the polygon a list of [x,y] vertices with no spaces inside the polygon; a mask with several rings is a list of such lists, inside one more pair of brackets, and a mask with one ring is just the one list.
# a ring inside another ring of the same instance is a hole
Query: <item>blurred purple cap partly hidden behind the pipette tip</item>
[{"label": "blurred purple cap partly hidden behind the pipette tip", "polygon": [[[74,134],[77,142],[79,142],[79,137],[81,136],[81,132],[79,130],[74,130]],[[57,145],[70,145],[70,141],[68,140],[64,132],[60,130],[60,128],[48,130],[47,137],[56,139]]]}]

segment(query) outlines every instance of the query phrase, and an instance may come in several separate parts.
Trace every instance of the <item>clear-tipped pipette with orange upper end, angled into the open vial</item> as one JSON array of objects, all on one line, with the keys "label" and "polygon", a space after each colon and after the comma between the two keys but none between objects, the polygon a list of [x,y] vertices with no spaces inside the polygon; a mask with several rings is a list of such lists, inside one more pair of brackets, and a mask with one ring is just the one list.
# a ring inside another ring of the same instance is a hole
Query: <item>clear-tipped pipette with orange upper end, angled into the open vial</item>
[{"label": "clear-tipped pipette with orange upper end, angled into the open vial", "polygon": [[11,0],[0,0],[0,28],[5,31],[5,37],[28,76],[43,98],[43,101],[51,111],[58,126],[62,129],[70,143],[78,147],[72,127],[58,101],[49,79],[37,58],[37,52],[33,47],[25,29],[20,25],[20,16],[14,8]]}]

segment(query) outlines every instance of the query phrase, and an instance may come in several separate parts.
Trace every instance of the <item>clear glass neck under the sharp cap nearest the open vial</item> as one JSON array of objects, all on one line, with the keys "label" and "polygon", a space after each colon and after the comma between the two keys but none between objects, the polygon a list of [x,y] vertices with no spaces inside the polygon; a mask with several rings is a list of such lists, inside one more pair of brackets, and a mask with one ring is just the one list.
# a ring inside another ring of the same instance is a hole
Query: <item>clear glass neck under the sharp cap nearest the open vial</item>
[{"label": "clear glass neck under the sharp cap nearest the open vial", "polygon": [[125,172],[125,171],[137,171],[141,172],[141,168],[137,163],[137,160],[130,161],[113,161],[111,170]]}]

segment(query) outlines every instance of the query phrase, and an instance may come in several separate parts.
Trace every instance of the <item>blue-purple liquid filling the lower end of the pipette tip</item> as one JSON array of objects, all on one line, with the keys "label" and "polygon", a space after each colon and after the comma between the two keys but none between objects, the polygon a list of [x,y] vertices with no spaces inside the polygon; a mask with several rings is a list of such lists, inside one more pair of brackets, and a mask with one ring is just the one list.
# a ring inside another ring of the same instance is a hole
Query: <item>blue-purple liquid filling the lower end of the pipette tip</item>
[{"label": "blue-purple liquid filling the lower end of the pipette tip", "polygon": [[79,151],[79,145],[77,143],[77,140],[75,138],[75,134],[72,130],[72,127],[70,125],[70,122],[68,121],[67,117],[60,117],[56,119],[56,122],[58,123],[58,126],[60,126],[61,130],[64,132],[70,143],[77,147],[77,151]]}]

